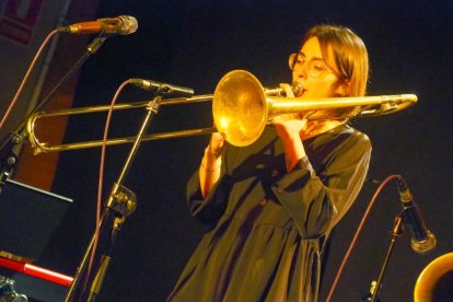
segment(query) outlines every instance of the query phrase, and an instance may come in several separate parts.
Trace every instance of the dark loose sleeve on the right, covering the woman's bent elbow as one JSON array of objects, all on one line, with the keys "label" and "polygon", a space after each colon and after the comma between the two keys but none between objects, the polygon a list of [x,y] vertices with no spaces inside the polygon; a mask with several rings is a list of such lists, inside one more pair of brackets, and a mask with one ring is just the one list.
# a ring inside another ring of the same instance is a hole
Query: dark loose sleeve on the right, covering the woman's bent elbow
[{"label": "dark loose sleeve on the right, covering the woman's bent elbow", "polygon": [[347,212],[363,185],[371,155],[367,136],[337,147],[317,174],[303,158],[272,191],[304,239],[320,237]]}]

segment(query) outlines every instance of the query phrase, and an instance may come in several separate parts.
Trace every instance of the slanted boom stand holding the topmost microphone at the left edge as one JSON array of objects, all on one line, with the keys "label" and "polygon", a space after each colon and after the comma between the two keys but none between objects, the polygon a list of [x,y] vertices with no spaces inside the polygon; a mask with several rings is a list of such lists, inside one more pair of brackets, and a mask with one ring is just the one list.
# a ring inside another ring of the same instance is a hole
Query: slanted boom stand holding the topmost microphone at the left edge
[{"label": "slanted boom stand holding the topmost microphone at the left edge", "polygon": [[101,46],[104,44],[107,37],[104,34],[100,34],[93,39],[92,43],[86,47],[86,51],[81,58],[76,62],[76,65],[60,79],[60,81],[54,86],[54,89],[44,97],[44,100],[24,118],[22,124],[12,132],[9,132],[5,137],[2,138],[0,143],[0,193],[1,188],[5,184],[7,178],[10,176],[10,173],[13,166],[18,162],[18,154],[14,148],[21,144],[24,141],[24,138],[27,136],[25,130],[25,125],[28,118],[44,108],[44,106],[49,102],[50,96],[68,80],[74,72],[78,70],[88,58],[95,54]]}]

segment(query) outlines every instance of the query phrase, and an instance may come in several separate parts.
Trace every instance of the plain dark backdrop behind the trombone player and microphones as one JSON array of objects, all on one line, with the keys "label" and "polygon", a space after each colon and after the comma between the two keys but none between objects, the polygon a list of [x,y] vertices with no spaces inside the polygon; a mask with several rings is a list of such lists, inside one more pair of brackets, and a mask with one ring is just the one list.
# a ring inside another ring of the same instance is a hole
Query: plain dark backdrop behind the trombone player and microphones
[{"label": "plain dark backdrop behind the trombone player and microphones", "polygon": [[[288,55],[317,23],[351,27],[364,40],[371,65],[369,95],[415,93],[404,112],[352,125],[373,143],[370,179],[400,174],[419,204],[437,248],[418,255],[410,232],[397,241],[382,301],[410,301],[423,267],[453,246],[451,212],[453,113],[453,2],[442,1],[100,1],[97,18],[133,15],[137,33],[109,38],[82,69],[76,106],[108,104],[130,78],[213,93],[228,71],[245,69],[264,86],[290,81]],[[77,36],[74,36],[77,38]],[[126,88],[118,102],[149,100]],[[144,111],[116,114],[111,137],[137,132]],[[210,104],[162,106],[152,131],[211,125]],[[105,115],[76,117],[67,140],[101,139]],[[144,142],[125,185],[138,196],[114,246],[100,301],[163,301],[199,241],[202,228],[187,213],[185,183],[199,165],[208,137]],[[130,146],[111,147],[105,193],[118,177]],[[76,200],[40,264],[73,275],[94,229],[100,149],[62,152],[53,191]],[[367,183],[332,242],[323,301],[357,225],[376,189]],[[348,262],[333,301],[359,301],[379,276],[390,231],[400,211],[394,184],[380,195]],[[101,248],[101,247],[100,247]],[[102,248],[101,248],[102,249]]]}]

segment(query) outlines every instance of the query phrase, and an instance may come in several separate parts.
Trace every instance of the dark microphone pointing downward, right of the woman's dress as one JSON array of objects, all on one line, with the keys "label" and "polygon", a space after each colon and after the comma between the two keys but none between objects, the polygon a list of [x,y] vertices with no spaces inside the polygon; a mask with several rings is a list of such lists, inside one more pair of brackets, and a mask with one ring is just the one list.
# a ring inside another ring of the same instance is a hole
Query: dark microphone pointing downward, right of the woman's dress
[{"label": "dark microphone pointing downward, right of the woman's dress", "polygon": [[410,246],[416,253],[425,254],[434,248],[435,236],[427,229],[413,194],[403,177],[399,176],[396,184],[403,206],[403,221],[409,225],[413,233]]}]

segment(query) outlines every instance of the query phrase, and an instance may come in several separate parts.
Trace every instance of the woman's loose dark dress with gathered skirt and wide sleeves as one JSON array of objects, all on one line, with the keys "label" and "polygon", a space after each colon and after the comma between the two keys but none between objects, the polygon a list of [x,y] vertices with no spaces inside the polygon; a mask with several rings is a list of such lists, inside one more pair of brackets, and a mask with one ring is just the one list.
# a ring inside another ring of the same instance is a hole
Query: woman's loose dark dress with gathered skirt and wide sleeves
[{"label": "woman's loose dark dress with gathered skirt and wide sleeves", "polygon": [[209,225],[169,301],[316,301],[320,254],[356,199],[371,143],[341,125],[303,141],[306,158],[286,172],[272,128],[223,153],[221,178],[202,199],[198,172],[190,213]]}]

